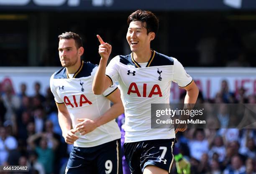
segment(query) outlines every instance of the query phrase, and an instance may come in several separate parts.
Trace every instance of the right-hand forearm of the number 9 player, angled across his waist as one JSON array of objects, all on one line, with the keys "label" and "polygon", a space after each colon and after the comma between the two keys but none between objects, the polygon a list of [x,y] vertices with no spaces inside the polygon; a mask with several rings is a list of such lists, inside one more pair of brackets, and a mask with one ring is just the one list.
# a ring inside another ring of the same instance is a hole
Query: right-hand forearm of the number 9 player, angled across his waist
[{"label": "right-hand forearm of the number 9 player, angled across his waist", "polygon": [[102,116],[99,118],[95,119],[95,123],[97,127],[108,123],[109,121],[117,118],[124,112],[123,104],[122,103],[115,103],[113,106],[106,111]]}]

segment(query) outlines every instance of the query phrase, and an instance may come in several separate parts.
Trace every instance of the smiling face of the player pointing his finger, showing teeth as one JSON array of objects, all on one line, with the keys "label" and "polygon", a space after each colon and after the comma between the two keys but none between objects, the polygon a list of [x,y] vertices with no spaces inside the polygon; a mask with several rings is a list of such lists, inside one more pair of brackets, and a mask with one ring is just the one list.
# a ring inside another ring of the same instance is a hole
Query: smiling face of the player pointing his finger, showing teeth
[{"label": "smiling face of the player pointing his finger, showing teeth", "polygon": [[142,25],[141,21],[132,21],[129,25],[126,39],[132,52],[138,52],[144,49],[150,49],[150,41],[154,39],[154,33],[145,28],[146,23]]}]

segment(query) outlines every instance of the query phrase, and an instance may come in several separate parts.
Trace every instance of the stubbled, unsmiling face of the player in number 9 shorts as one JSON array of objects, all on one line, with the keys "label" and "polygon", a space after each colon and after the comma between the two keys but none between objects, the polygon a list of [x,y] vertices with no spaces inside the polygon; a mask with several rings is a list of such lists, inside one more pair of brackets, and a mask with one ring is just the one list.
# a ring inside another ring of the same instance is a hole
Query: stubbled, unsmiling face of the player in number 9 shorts
[{"label": "stubbled, unsmiling face of the player in number 9 shorts", "polygon": [[63,67],[70,67],[78,63],[80,61],[79,49],[77,49],[74,39],[59,40],[59,59],[61,65]]}]

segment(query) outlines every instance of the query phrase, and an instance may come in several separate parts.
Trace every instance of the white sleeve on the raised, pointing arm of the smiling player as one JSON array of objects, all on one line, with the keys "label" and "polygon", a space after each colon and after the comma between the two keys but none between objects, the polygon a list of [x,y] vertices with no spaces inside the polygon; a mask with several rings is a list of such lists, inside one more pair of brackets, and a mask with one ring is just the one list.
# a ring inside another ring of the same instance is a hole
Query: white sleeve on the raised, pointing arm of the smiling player
[{"label": "white sleeve on the raised, pointing arm of the smiling player", "polygon": [[115,56],[106,68],[106,76],[110,79],[112,85],[119,81],[119,55]]}]

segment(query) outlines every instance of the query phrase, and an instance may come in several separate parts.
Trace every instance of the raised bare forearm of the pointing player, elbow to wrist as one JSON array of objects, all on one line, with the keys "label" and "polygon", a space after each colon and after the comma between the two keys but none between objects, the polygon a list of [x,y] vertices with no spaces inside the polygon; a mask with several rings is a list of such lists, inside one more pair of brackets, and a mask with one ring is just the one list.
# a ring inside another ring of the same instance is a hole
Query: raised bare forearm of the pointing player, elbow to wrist
[{"label": "raised bare forearm of the pointing player, elbow to wrist", "polygon": [[95,77],[92,83],[92,91],[94,94],[102,94],[105,88],[105,73],[107,67],[107,60],[100,59],[99,68],[96,71]]}]

